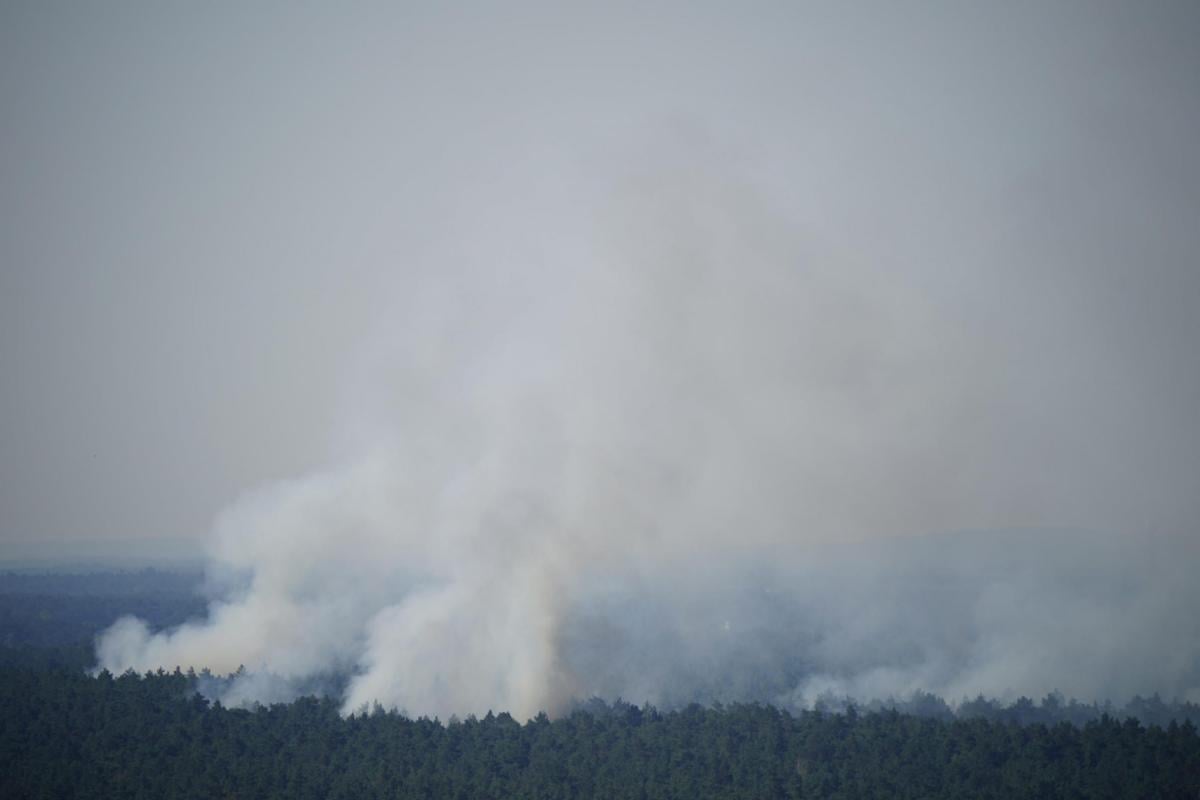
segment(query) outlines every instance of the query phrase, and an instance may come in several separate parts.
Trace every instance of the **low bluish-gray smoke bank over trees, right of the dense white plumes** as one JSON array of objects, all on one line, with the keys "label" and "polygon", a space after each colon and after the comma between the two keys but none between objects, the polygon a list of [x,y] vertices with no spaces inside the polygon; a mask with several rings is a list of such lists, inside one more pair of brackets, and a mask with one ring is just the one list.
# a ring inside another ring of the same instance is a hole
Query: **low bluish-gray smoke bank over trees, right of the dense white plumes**
[{"label": "low bluish-gray smoke bank over trees, right of the dense white plumes", "polygon": [[[1195,698],[1194,543],[988,531],[708,566],[606,587],[565,650],[587,693],[689,702]],[[673,594],[668,594],[673,593]]]}]

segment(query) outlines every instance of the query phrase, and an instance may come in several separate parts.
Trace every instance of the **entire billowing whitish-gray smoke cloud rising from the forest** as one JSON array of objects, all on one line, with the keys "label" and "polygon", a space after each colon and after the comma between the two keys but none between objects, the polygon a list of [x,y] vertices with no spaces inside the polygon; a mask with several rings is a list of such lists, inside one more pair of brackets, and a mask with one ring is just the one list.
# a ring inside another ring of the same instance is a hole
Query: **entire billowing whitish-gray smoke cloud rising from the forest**
[{"label": "entire billowing whitish-gray smoke cloud rising from the forest", "polygon": [[443,717],[1198,699],[1194,323],[1120,299],[1194,278],[889,255],[716,145],[650,151],[419,265],[340,462],[223,512],[208,619],[121,620],[100,666],[276,676],[235,700],[349,675],[347,710]]}]

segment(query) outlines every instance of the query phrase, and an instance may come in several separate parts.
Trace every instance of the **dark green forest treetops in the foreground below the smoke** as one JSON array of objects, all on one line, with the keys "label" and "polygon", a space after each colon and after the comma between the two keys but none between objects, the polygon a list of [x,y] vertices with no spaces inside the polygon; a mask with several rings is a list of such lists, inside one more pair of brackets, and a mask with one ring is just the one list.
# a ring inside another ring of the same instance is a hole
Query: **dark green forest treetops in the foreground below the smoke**
[{"label": "dark green forest treetops in the foreground below the smoke", "polygon": [[332,699],[228,709],[187,674],[0,668],[6,798],[1196,798],[1200,735],[898,711],[592,702],[446,723]]}]

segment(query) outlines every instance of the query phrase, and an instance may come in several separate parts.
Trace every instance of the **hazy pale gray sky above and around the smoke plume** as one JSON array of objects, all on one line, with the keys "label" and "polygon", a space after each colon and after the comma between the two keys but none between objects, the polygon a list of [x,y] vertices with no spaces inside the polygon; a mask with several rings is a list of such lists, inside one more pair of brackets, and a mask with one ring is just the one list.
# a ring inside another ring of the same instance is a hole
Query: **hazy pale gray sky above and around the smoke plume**
[{"label": "hazy pale gray sky above and around the smoke plume", "polygon": [[664,252],[823,265],[821,369],[950,398],[880,426],[973,498],[914,524],[1194,529],[1198,41],[1193,2],[6,1],[0,554],[200,537],[361,449],[410,315],[556,336],[544,278]]}]

